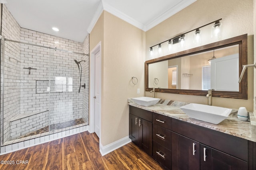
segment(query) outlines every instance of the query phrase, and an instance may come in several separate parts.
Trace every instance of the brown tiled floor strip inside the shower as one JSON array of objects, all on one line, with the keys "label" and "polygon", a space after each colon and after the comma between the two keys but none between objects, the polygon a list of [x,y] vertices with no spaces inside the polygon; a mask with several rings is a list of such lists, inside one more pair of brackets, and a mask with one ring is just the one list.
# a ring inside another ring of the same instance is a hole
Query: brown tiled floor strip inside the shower
[{"label": "brown tiled floor strip inside the shower", "polygon": [[[85,123],[82,118],[71,120],[71,121],[66,121],[66,122],[62,122],[62,123],[56,123],[56,124],[50,125],[50,131],[63,129],[63,128],[71,127],[71,126],[74,126],[74,125],[80,125],[82,123]],[[36,130],[34,132],[31,132],[31,133],[27,133],[26,135],[23,135],[23,136],[19,137],[18,139],[23,138],[23,137],[38,135],[38,134],[46,133],[46,132],[49,132],[49,126],[43,127],[41,129],[38,129],[38,130]]]}]

